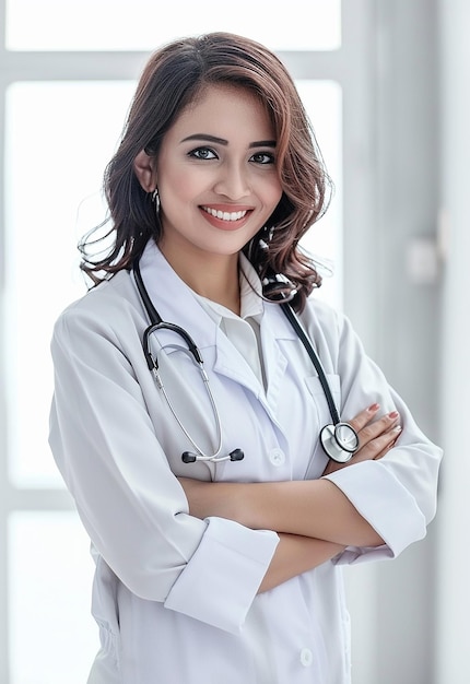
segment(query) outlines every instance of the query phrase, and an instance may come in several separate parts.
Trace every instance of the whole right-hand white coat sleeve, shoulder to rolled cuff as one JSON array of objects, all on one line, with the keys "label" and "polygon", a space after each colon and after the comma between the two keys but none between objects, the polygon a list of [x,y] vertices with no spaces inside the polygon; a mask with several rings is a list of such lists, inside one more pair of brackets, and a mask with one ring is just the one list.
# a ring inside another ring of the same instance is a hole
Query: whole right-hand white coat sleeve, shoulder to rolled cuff
[{"label": "whole right-hand white coat sleeve, shoulder to rolled cuff", "polygon": [[[332,329],[331,319],[328,329]],[[350,321],[342,315],[337,316],[337,335],[336,344],[320,352],[328,358],[328,350],[336,350],[328,370],[341,378],[341,418],[350,421],[377,402],[381,415],[398,411],[402,432],[383,458],[351,462],[326,476],[385,542],[379,547],[348,547],[336,561],[359,563],[392,558],[426,534],[426,526],[436,512],[443,452],[422,433],[407,404],[367,356]]]}]

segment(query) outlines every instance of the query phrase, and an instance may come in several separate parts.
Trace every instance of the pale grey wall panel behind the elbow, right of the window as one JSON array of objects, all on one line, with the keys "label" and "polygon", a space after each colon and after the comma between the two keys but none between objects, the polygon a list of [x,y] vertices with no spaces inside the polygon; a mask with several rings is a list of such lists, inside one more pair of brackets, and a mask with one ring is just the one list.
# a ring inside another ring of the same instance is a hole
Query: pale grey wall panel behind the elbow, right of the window
[{"label": "pale grey wall panel behind the elbow, right of the window", "polygon": [[[345,0],[348,2],[348,0]],[[375,0],[375,207],[369,235],[352,233],[344,282],[354,322],[389,381],[423,431],[440,441],[438,425],[442,282],[407,268],[416,238],[435,239],[439,196],[438,61],[435,0]],[[364,239],[374,258],[354,258]],[[356,247],[356,249],[357,249]],[[348,252],[346,252],[348,253]],[[354,269],[372,295],[359,297]],[[356,309],[362,307],[362,318]],[[470,416],[469,416],[470,418]],[[425,541],[391,563],[351,568],[354,684],[435,684],[436,523]],[[365,617],[365,618],[364,618]],[[470,680],[469,680],[470,681]],[[446,684],[455,684],[451,679]]]}]

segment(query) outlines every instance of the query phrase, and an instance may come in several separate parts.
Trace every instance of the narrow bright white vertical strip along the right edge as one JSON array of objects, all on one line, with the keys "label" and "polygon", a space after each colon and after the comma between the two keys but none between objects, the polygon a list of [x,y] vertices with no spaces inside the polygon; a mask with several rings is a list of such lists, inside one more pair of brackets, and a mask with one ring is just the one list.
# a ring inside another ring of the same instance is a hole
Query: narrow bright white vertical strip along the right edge
[{"label": "narrow bright white vertical strip along the right edge", "polygon": [[437,683],[468,684],[470,613],[470,3],[440,0],[443,298]]}]

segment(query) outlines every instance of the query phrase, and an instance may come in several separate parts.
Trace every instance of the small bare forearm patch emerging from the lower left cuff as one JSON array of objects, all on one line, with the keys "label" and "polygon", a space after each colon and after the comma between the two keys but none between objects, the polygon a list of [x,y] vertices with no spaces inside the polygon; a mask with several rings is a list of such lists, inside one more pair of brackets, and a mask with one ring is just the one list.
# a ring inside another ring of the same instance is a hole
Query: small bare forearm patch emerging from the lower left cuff
[{"label": "small bare forearm patch emerging from the lower left cuff", "polygon": [[258,593],[273,589],[292,577],[312,570],[333,558],[344,549],[340,544],[297,534],[280,534],[279,539],[278,547]]}]

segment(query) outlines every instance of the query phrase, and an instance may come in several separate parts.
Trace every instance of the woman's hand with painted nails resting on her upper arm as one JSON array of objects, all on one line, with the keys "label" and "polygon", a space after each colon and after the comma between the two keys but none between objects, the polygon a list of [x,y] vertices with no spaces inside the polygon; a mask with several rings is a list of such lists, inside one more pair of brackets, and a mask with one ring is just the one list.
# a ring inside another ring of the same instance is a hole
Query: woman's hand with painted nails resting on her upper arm
[{"label": "woman's hand with painted nails resting on her upper arm", "polygon": [[337,463],[330,459],[324,470],[324,475],[329,475],[337,470],[348,468],[348,465],[353,465],[361,461],[380,459],[395,446],[401,433],[401,426],[399,425],[400,416],[397,411],[392,411],[374,421],[374,416],[379,408],[378,404],[373,404],[368,409],[361,411],[352,421],[349,421],[350,425],[357,433],[360,448],[352,459],[345,463]]}]

